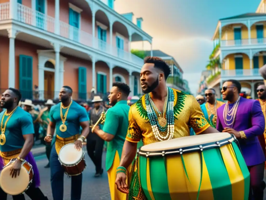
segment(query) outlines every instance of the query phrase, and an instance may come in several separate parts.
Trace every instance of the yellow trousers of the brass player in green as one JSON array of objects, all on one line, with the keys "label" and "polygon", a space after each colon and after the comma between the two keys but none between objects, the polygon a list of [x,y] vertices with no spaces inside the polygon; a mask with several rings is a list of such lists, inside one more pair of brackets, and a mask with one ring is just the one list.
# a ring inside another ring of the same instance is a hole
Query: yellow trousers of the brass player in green
[{"label": "yellow trousers of the brass player in green", "polygon": [[[116,169],[117,169],[117,167],[119,167],[119,164],[120,164],[120,159],[119,159],[118,152],[116,151],[113,164],[112,164],[111,168],[107,171],[111,200],[126,200],[126,199],[128,199],[128,195],[120,192],[117,189],[117,186],[115,184]],[[128,187],[130,185],[130,181],[131,181],[131,165],[127,168],[126,184]]]}]

